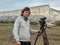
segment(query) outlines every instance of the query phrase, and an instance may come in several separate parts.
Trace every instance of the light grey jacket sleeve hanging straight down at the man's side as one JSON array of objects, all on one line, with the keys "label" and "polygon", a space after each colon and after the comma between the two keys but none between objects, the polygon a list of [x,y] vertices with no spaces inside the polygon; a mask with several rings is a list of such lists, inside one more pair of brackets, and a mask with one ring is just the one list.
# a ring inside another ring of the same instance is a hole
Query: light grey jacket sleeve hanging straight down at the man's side
[{"label": "light grey jacket sleeve hanging straight down at the man's side", "polygon": [[19,18],[17,18],[14,23],[14,28],[13,28],[13,35],[14,35],[14,39],[16,39],[16,41],[19,41],[19,35],[18,35],[19,25],[20,25]]}]

